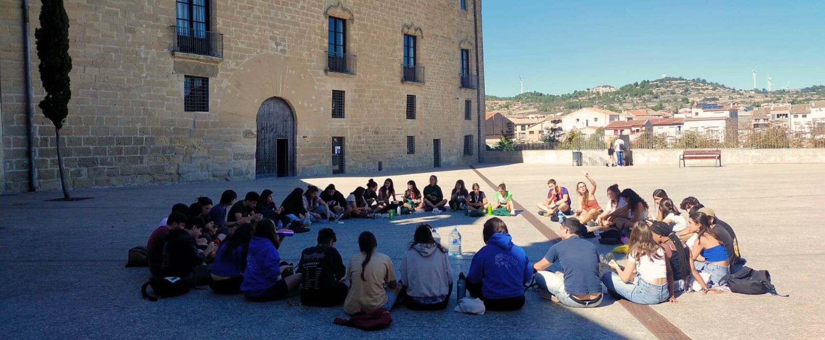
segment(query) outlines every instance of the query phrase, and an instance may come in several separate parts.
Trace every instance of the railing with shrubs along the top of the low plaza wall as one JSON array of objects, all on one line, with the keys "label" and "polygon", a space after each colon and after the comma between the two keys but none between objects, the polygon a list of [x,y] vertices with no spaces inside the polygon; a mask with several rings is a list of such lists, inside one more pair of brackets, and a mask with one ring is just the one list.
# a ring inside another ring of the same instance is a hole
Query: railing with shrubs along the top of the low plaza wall
[{"label": "railing with shrubs along the top of the low plaza wall", "polygon": [[[501,143],[490,146],[494,150],[556,150],[606,149],[615,135],[561,135],[545,138],[544,141],[519,141],[510,144]],[[676,134],[657,134],[642,132],[622,136],[629,141],[628,149],[790,149],[790,148],[825,148],[825,128],[807,131],[787,129],[743,129],[719,131],[681,131]]]}]

